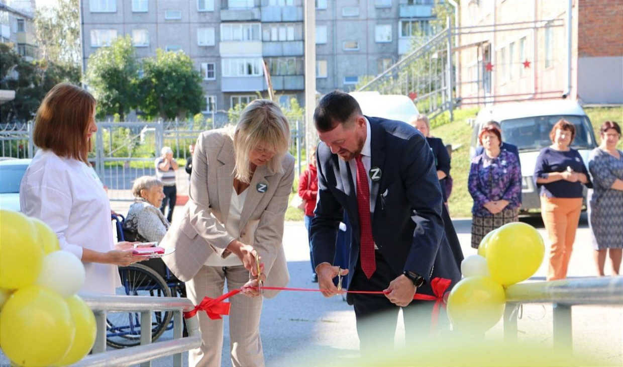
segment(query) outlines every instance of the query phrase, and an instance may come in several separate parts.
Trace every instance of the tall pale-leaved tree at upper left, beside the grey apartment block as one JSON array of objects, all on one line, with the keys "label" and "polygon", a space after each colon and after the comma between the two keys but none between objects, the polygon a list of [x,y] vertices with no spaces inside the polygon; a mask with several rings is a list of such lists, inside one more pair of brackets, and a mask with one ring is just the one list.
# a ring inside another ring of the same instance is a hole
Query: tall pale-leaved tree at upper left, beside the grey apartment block
[{"label": "tall pale-leaved tree at upper left, beside the grey apartment block", "polygon": [[79,0],[58,0],[57,7],[37,8],[35,29],[41,59],[58,65],[64,79],[80,83]]}]

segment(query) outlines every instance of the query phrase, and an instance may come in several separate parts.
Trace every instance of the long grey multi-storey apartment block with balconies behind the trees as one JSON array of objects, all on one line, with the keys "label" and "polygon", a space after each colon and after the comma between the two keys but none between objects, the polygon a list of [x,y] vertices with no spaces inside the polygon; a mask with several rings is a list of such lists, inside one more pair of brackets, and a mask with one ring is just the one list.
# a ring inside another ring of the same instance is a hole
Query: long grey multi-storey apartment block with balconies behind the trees
[{"label": "long grey multi-storey apartment block with balconies behind the trees", "polygon": [[[82,0],[83,67],[129,34],[139,57],[188,54],[202,75],[204,113],[225,113],[265,92],[264,62],[283,106],[304,104],[306,0]],[[307,0],[312,1],[312,0]],[[316,86],[350,90],[409,52],[430,31],[434,0],[315,0]]]}]

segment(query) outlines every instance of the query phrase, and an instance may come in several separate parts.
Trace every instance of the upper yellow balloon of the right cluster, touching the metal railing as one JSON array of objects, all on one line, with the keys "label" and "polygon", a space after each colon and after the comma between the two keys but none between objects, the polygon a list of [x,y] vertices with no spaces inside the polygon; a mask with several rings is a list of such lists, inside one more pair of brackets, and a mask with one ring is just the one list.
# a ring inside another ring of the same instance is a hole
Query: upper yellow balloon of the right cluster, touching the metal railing
[{"label": "upper yellow balloon of the right cluster, touching the metal railing", "polygon": [[530,278],[545,256],[545,244],[530,224],[513,222],[495,231],[487,245],[487,266],[491,277],[503,286]]}]

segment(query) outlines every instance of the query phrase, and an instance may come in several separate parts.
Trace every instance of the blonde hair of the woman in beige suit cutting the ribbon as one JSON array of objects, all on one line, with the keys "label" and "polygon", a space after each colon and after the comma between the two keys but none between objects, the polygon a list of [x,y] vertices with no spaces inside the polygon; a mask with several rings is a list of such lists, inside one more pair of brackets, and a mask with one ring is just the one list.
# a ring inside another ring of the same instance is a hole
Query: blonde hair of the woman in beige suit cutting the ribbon
[{"label": "blonde hair of the woman in beige suit cutting the ribbon", "polygon": [[240,114],[234,131],[234,177],[250,183],[249,153],[259,145],[275,152],[266,163],[273,173],[283,173],[283,157],[290,146],[290,124],[281,108],[270,100],[254,100]]}]

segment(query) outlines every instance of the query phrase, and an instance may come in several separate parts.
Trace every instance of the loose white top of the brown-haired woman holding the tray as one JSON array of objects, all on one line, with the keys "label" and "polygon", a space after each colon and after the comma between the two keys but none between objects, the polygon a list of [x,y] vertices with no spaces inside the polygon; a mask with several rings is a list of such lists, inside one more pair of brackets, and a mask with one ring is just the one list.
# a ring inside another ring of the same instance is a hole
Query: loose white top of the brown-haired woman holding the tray
[{"label": "loose white top of the brown-haired woman holding the tray", "polygon": [[[108,196],[95,171],[82,161],[37,151],[22,178],[19,203],[24,214],[52,227],[60,249],[78,259],[83,249],[115,249]],[[116,265],[83,264],[86,279],[80,292],[115,294],[121,285]]]}]

